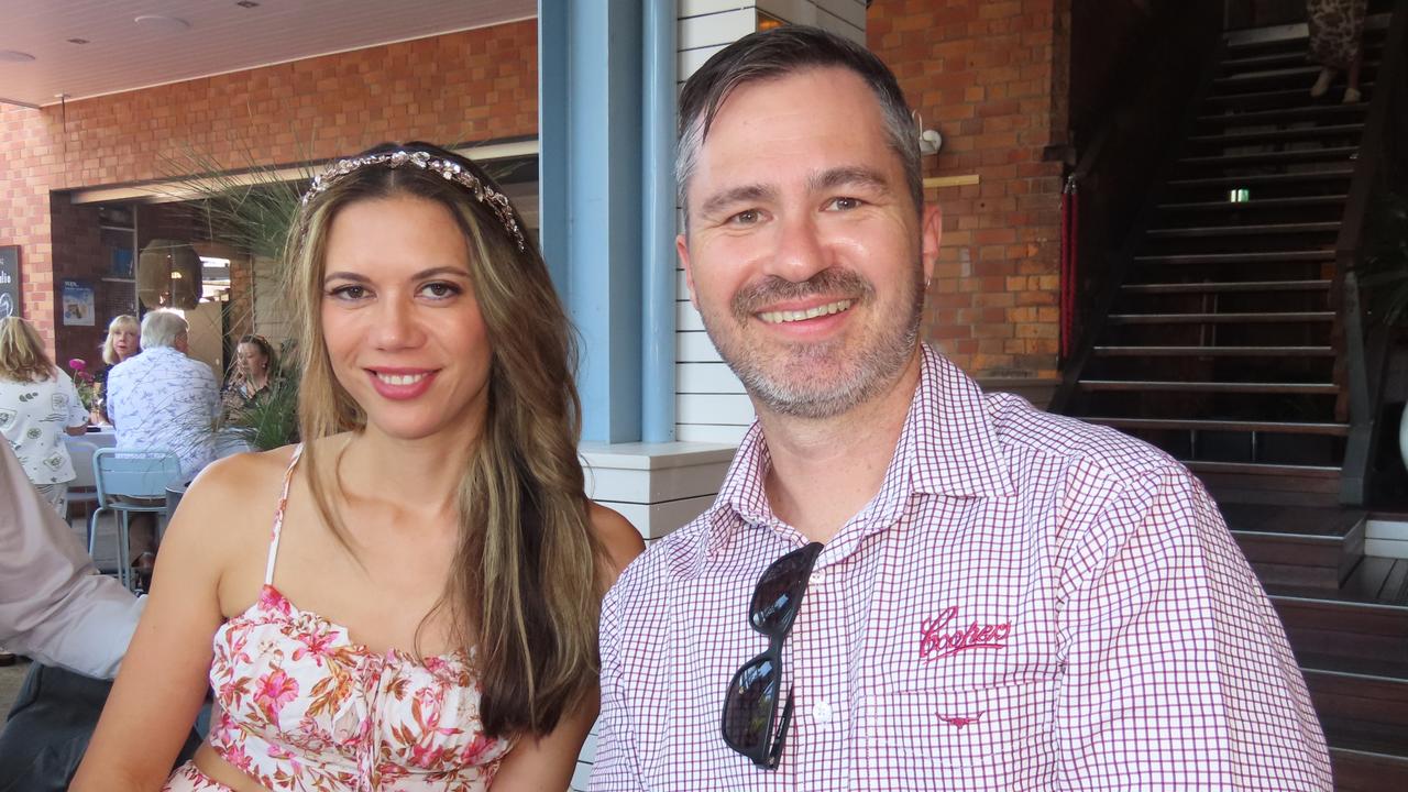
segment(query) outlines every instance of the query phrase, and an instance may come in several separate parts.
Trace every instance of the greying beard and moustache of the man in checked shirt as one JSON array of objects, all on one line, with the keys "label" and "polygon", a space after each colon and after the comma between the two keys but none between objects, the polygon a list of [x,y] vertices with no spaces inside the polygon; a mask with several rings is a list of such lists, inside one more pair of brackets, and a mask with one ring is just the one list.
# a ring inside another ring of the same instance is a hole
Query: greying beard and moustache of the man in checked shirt
[{"label": "greying beard and moustache of the man in checked shirt", "polygon": [[[850,269],[828,268],[811,279],[794,283],[770,275],[741,289],[729,303],[729,316],[700,311],[704,330],[749,395],[769,410],[800,419],[829,419],[843,414],[883,392],[908,362],[919,335],[924,310],[922,275],[908,285],[907,300],[895,306],[894,321],[870,328],[850,328],[850,335],[869,331],[862,338],[841,337],[831,341],[796,342],[783,351],[749,345],[743,337],[759,309],[784,300],[807,297],[850,299],[849,310],[874,309],[876,289]],[[886,306],[879,306],[883,311]],[[905,313],[907,309],[907,313]],[[732,327],[727,326],[732,320]],[[849,341],[849,359],[848,355]],[[841,364],[835,376],[817,376]]]}]

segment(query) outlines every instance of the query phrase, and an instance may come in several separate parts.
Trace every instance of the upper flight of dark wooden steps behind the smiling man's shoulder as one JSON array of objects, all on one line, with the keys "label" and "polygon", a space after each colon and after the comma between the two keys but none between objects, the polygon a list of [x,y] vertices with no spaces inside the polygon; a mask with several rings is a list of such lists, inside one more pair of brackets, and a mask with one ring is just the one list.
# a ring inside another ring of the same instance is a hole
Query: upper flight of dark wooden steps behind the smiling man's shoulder
[{"label": "upper flight of dark wooden steps behind the smiling man's shoulder", "polygon": [[1335,244],[1383,42],[1366,41],[1353,104],[1308,96],[1304,32],[1224,49],[1066,412],[1236,500],[1338,502]]}]

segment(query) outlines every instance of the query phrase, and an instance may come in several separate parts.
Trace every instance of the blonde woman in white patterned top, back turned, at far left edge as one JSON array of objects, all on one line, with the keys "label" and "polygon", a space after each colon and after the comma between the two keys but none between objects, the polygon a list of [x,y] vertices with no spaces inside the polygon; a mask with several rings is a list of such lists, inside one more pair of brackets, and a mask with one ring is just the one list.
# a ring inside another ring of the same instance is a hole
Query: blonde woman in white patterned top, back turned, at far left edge
[{"label": "blonde woman in white patterned top, back turned, at far left edge", "polygon": [[39,495],[68,519],[73,461],[65,434],[87,430],[87,410],[69,375],[44,351],[39,333],[28,321],[0,318],[0,434],[14,448]]}]

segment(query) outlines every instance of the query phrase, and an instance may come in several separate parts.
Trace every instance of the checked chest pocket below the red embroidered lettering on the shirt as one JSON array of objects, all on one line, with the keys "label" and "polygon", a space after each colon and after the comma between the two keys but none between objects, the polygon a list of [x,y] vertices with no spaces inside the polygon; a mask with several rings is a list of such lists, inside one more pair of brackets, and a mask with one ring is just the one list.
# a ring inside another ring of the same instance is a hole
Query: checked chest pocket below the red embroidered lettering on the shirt
[{"label": "checked chest pocket below the red embroidered lettering on the shirt", "polygon": [[1056,781],[1053,678],[884,688],[863,716],[862,789],[1046,789]]}]

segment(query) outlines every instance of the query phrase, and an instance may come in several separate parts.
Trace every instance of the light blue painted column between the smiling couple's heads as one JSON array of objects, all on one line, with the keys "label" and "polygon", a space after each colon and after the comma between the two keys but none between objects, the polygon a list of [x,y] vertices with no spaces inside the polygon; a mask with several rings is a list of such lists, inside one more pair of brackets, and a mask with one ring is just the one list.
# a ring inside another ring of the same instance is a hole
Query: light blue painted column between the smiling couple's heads
[{"label": "light blue painted column between the smiling couple's heads", "polygon": [[[665,8],[662,8],[665,6]],[[648,154],[649,127],[645,107],[646,82],[658,79],[656,66],[673,65],[673,35],[663,45],[648,39],[663,28],[656,17],[670,17],[673,3],[660,0],[539,0],[538,3],[538,130],[542,249],[572,320],[582,335],[583,440],[631,443],[667,440],[659,426],[663,399],[655,389],[669,390],[667,434],[673,434],[673,266],[665,259],[669,295],[659,302],[662,285],[655,269],[662,266],[660,231],[646,241],[643,230],[660,214],[662,187],[648,187],[669,179],[669,240],[673,245],[673,173],[666,149],[663,176],[660,148]],[[650,20],[653,30],[645,30]],[[669,55],[650,48],[666,47]],[[649,75],[649,76],[646,76]],[[663,78],[669,94],[670,120],[665,141],[673,141],[673,69]],[[650,82],[650,85],[655,85]],[[658,92],[659,93],[659,92]],[[649,197],[645,197],[649,196]],[[649,209],[645,202],[649,200]],[[645,210],[645,211],[642,211]],[[648,218],[648,220],[642,220]],[[673,248],[669,248],[670,251]],[[646,251],[655,251],[646,254]],[[653,259],[653,261],[652,261]],[[650,262],[646,265],[645,262]],[[649,273],[649,278],[646,278]],[[646,280],[650,293],[642,290]],[[662,318],[662,313],[665,318]],[[666,321],[667,320],[667,321]],[[642,334],[653,344],[642,342]],[[662,372],[659,337],[667,334],[669,365]],[[649,349],[649,352],[646,351]],[[652,427],[642,431],[649,397]]]}]

